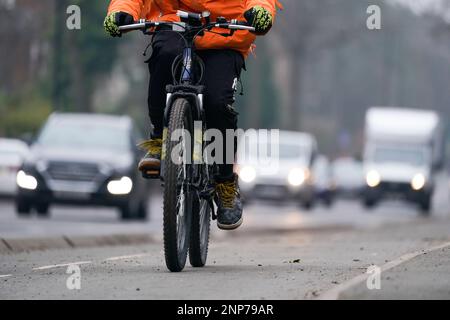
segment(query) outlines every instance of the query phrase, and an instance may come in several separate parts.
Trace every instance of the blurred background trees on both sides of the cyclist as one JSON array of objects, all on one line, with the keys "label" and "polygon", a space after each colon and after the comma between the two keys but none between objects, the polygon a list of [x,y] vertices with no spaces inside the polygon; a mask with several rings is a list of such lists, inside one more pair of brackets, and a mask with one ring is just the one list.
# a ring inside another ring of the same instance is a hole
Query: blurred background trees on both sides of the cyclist
[{"label": "blurred background trees on both sides of the cyclist", "polygon": [[[449,15],[395,1],[283,0],[247,60],[240,125],[310,131],[336,155],[360,150],[372,105],[435,109],[448,121]],[[142,52],[150,39],[106,36],[108,3],[0,0],[0,135],[36,130],[53,110],[127,113],[149,127]],[[69,4],[81,7],[81,30],[66,28]],[[382,9],[378,31],[366,28],[373,4]]]}]

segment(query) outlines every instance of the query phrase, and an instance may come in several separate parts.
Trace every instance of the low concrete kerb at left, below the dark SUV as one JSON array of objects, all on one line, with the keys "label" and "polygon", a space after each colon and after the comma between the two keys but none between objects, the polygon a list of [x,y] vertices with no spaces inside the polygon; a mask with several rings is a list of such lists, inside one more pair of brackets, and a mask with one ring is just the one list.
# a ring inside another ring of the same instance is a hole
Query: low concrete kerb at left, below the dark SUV
[{"label": "low concrete kerb at left, below the dark SUV", "polygon": [[0,254],[15,254],[21,252],[57,249],[139,245],[154,242],[156,242],[156,240],[149,234],[0,239]]}]

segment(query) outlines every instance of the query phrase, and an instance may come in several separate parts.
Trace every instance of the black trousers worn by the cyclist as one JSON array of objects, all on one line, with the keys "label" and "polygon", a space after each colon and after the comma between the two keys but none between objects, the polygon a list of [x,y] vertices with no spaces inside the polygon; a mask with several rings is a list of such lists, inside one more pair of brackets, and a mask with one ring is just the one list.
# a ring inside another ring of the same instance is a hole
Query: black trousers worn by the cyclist
[{"label": "black trousers worn by the cyclist", "polygon": [[[161,137],[166,85],[172,84],[172,63],[182,53],[184,42],[171,32],[158,33],[153,38],[153,52],[148,61],[150,85],[148,110],[153,124],[152,137]],[[234,50],[199,50],[197,55],[205,64],[202,84],[206,86],[204,107],[208,129],[218,129],[224,138],[224,163],[219,165],[219,180],[233,176],[233,164],[226,164],[225,147],[227,129],[237,129],[238,113],[232,107],[235,100],[237,81],[244,68],[244,58]]]}]

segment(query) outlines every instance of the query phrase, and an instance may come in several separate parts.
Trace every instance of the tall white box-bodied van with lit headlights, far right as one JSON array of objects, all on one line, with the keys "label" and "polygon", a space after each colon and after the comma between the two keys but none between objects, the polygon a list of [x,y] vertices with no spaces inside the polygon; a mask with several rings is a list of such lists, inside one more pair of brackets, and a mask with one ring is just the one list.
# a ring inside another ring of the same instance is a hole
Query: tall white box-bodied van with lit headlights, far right
[{"label": "tall white box-bodied van with lit headlights, far right", "polygon": [[431,209],[434,169],[443,161],[443,130],[437,113],[427,110],[376,107],[365,124],[364,204],[401,197]]}]

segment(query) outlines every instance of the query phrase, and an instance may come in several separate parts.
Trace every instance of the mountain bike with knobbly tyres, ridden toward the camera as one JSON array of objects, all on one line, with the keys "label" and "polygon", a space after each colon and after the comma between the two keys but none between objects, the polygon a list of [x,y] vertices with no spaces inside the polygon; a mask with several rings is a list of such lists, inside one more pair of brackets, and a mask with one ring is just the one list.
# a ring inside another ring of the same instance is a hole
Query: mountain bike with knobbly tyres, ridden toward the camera
[{"label": "mountain bike with knobbly tyres, ridden toward the camera", "polygon": [[[119,27],[121,32],[141,30],[147,35],[176,32],[185,43],[183,53],[172,64],[174,84],[166,88],[161,169],[159,172],[143,173],[144,178],[159,178],[163,183],[164,255],[167,268],[172,272],[184,269],[188,251],[193,267],[205,266],[210,222],[217,218],[213,204],[214,174],[217,167],[208,164],[208,161],[192,161],[198,153],[195,146],[199,143],[199,136],[200,147],[202,150],[206,147],[203,141],[206,131],[203,108],[205,87],[200,85],[205,66],[195,54],[195,39],[204,32],[213,32],[213,28],[228,29],[227,33],[219,33],[224,37],[232,36],[236,30],[255,31],[246,22],[238,20],[228,21],[219,17],[212,22],[209,12],[198,14],[178,11],[177,15],[180,22],[139,20]],[[195,121],[201,121],[201,132],[194,130]],[[178,132],[182,134],[178,140],[173,140],[172,137]],[[180,144],[182,147],[178,150]],[[173,161],[174,152],[178,157],[177,161]]]}]

